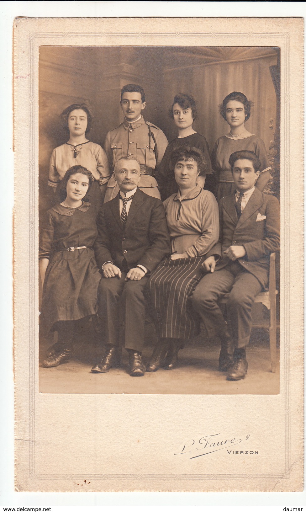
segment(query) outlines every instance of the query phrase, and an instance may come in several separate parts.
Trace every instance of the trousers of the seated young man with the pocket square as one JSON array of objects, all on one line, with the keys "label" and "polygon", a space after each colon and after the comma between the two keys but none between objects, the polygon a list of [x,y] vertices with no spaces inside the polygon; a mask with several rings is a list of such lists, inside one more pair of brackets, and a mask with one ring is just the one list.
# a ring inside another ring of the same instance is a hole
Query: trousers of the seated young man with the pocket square
[{"label": "trousers of the seated young man with the pocket square", "polygon": [[[208,336],[225,336],[229,333],[235,348],[249,343],[252,329],[252,304],[261,291],[261,284],[253,274],[239,263],[232,262],[221,270],[204,275],[191,297],[192,306],[206,327]],[[229,293],[226,319],[217,304]]]}]

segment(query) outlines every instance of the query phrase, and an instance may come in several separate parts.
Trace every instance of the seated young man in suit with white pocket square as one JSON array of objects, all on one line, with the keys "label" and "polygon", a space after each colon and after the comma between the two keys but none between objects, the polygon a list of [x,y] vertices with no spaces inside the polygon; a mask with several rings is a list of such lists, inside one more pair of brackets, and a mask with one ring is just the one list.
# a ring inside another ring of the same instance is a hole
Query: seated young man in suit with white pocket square
[{"label": "seated young man in suit with white pocket square", "polygon": [[[270,254],[279,250],[279,202],[255,187],[260,168],[255,153],[236,151],[229,163],[237,188],[220,201],[220,240],[203,263],[207,273],[191,300],[208,335],[220,337],[219,370],[228,371],[228,380],[239,380],[248,369],[252,304],[268,285]],[[226,293],[225,321],[217,301]]]}]

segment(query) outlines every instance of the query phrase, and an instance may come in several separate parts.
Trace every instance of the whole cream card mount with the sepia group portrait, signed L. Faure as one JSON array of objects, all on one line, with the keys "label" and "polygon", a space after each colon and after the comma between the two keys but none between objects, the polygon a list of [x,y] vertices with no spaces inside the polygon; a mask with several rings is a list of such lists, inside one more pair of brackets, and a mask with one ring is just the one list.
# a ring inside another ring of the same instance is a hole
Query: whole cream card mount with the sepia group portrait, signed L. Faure
[{"label": "whole cream card mount with the sepia group portrait, signed L. Faure", "polygon": [[19,492],[302,489],[303,19],[178,21],[15,19]]}]

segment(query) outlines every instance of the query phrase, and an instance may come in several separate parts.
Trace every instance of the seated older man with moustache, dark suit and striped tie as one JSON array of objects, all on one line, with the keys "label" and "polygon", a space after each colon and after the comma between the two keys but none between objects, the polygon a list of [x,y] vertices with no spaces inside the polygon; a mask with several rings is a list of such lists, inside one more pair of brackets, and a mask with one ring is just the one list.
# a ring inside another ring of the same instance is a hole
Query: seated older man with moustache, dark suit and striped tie
[{"label": "seated older man with moustache, dark suit and striped tie", "polygon": [[120,191],[99,212],[94,245],[96,261],[103,272],[98,300],[106,346],[102,361],[92,372],[105,373],[118,366],[120,331],[124,329],[130,375],[142,376],[144,289],[149,273],[169,254],[170,238],[161,200],[137,187],[141,170],[136,158],[117,160],[113,176]]}]

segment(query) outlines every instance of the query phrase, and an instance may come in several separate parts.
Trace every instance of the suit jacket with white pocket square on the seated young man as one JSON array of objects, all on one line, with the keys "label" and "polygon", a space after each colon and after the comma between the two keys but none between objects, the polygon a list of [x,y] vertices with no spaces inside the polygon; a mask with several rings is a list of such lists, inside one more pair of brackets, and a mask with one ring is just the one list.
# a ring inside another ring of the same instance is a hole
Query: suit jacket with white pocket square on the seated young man
[{"label": "suit jacket with white pocket square on the seated young man", "polygon": [[220,270],[231,260],[224,251],[231,245],[243,245],[246,254],[236,260],[266,288],[271,252],[279,250],[279,202],[255,187],[241,218],[235,208],[235,193],[223,197],[219,204],[220,239],[207,257],[217,254],[221,259],[215,269]]}]

